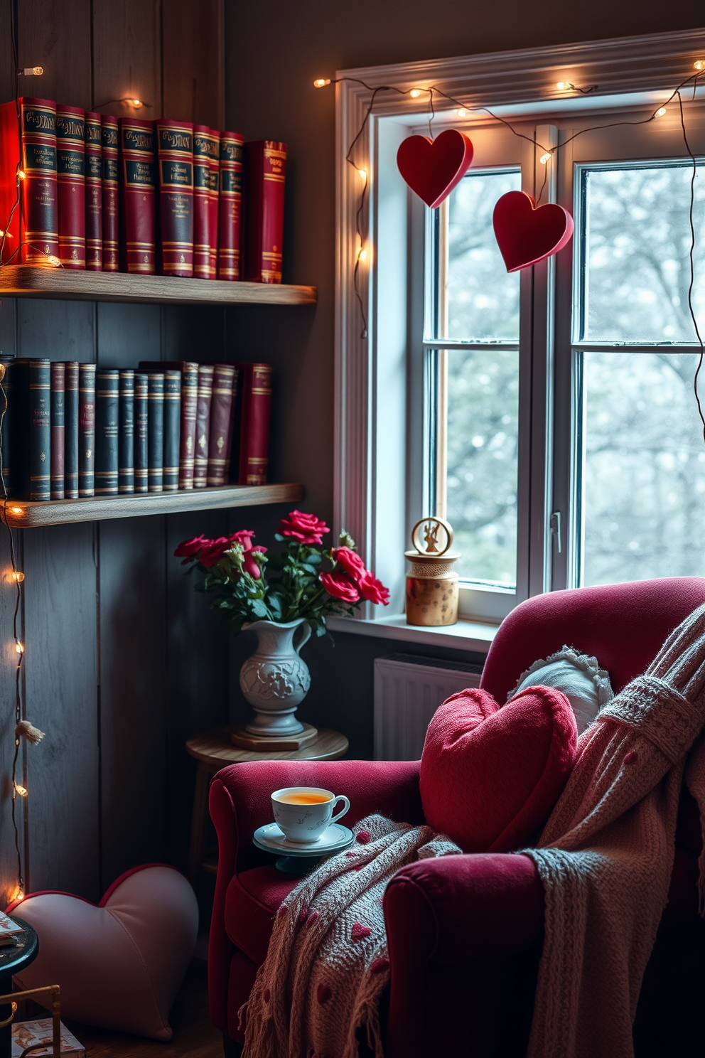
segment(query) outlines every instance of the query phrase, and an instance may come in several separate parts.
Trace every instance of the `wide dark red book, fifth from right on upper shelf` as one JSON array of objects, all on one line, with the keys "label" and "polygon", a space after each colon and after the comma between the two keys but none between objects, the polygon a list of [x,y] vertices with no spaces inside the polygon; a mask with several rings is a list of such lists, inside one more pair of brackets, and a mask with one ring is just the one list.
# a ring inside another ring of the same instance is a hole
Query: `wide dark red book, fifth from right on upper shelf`
[{"label": "wide dark red book, fifth from right on upper shelf", "polygon": [[161,275],[193,275],[193,126],[156,122]]}]

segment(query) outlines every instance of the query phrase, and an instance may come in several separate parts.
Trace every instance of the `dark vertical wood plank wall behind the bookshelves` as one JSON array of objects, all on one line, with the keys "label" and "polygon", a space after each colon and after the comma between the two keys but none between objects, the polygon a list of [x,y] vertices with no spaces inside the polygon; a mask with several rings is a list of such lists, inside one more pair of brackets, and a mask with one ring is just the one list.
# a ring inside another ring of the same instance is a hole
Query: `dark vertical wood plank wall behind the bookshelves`
[{"label": "dark vertical wood plank wall behind the bookshelves", "polygon": [[[0,0],[0,102],[14,93],[14,2]],[[16,10],[19,65],[44,68],[41,78],[21,78],[20,92],[224,127],[223,0],[16,0]],[[137,112],[111,102],[124,96],[151,106]],[[110,367],[218,360],[224,314],[5,299],[0,349]],[[193,762],[184,740],[227,718],[228,660],[224,630],[172,552],[185,536],[226,527],[226,512],[216,511],[16,534],[26,578],[26,715],[47,732],[38,746],[22,746],[30,889],[95,899],[136,863],[185,863]],[[0,525],[0,573],[8,568]],[[16,883],[13,607],[14,588],[0,579],[0,899]]]}]

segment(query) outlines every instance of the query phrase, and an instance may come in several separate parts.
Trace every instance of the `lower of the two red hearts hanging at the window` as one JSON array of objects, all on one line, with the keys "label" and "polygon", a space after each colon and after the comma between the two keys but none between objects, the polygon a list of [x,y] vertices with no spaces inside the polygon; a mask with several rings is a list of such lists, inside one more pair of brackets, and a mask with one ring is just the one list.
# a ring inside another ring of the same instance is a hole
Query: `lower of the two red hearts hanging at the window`
[{"label": "lower of the two red hearts hanging at the window", "polygon": [[493,213],[493,227],[507,272],[557,254],[573,235],[573,218],[562,205],[536,206],[525,191],[507,191]]}]

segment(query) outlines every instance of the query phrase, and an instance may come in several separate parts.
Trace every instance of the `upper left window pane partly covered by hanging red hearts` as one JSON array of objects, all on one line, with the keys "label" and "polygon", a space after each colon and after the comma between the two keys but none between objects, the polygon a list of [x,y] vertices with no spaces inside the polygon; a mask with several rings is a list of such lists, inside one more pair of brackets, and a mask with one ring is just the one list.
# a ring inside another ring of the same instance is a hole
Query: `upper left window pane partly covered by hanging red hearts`
[{"label": "upper left window pane partly covered by hanging red hearts", "polygon": [[448,204],[447,338],[519,341],[519,273],[507,275],[493,231],[501,195],[521,190],[520,172],[464,177]]}]

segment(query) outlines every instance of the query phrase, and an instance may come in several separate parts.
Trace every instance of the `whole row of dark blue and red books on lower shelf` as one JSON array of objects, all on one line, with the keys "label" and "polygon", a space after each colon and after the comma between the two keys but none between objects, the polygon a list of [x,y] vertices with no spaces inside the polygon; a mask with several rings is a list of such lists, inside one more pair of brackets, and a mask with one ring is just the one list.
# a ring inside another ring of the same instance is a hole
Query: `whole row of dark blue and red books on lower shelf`
[{"label": "whole row of dark blue and red books on lower shelf", "polygon": [[[2,358],[2,485],[31,500],[266,482],[268,364]],[[2,492],[2,490],[0,490]]]}]

